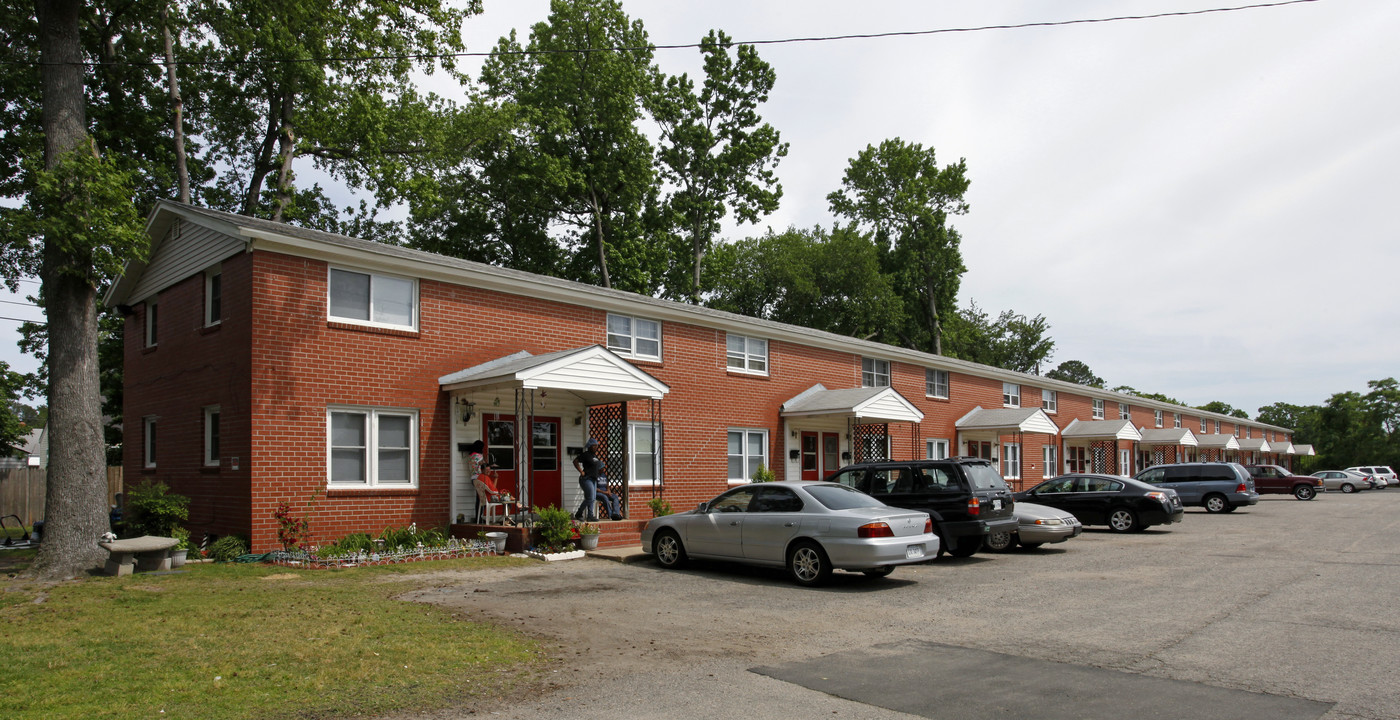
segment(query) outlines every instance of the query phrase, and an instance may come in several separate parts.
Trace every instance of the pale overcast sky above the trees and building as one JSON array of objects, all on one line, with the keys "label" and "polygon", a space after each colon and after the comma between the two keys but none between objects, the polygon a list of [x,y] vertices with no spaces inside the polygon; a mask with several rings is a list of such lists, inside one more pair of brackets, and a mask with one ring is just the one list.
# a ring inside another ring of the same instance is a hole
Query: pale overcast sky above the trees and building
[{"label": "pale overcast sky above the trees and building", "polygon": [[[469,50],[547,0],[484,0]],[[623,0],[654,43],[1054,22],[1211,0]],[[1043,314],[1051,364],[1253,416],[1397,375],[1400,3],[766,45],[791,143],[757,228],[829,226],[847,161],[889,137],[966,158],[960,305]],[[699,50],[659,50],[668,73]],[[34,291],[35,286],[25,286]],[[24,308],[0,305],[0,315]],[[0,322],[0,359],[18,357]]]}]

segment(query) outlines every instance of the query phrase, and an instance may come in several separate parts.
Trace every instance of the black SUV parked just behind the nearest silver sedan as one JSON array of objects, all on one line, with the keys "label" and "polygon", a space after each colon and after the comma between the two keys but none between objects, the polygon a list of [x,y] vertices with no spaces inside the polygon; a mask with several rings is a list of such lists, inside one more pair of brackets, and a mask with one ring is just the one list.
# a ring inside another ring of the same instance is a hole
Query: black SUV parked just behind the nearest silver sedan
[{"label": "black SUV parked just behind the nearest silver sedan", "polygon": [[993,532],[1015,532],[1011,489],[981,458],[858,462],[827,478],[934,520],[938,553],[966,558]]}]

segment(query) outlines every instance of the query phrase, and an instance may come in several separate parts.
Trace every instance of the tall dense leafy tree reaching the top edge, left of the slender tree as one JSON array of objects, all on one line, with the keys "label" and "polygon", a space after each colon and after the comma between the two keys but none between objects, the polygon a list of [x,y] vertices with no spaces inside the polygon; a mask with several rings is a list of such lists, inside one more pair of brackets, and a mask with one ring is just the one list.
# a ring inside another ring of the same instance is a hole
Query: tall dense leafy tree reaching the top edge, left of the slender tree
[{"label": "tall dense leafy tree reaching the top edge, left of the slender tree", "polygon": [[644,217],[657,203],[652,148],[638,127],[651,87],[648,42],[616,0],[554,0],[529,45],[514,32],[501,38],[482,70],[489,97],[514,104],[519,118],[498,158],[505,171],[490,176],[519,179],[500,191],[505,198],[536,198],[519,219],[529,224],[514,234],[538,242],[563,226],[560,275],[640,293],[659,284],[665,263]]}]

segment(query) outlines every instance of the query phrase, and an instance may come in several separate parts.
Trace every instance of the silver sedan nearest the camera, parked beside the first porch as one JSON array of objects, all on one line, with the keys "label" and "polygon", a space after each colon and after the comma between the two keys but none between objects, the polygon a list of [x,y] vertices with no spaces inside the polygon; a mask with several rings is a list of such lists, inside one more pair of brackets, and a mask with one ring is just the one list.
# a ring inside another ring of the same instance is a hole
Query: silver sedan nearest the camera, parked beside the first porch
[{"label": "silver sedan nearest the camera, parked beside the first porch", "polygon": [[798,584],[818,586],[833,569],[883,577],[896,565],[931,560],[938,535],[928,513],[844,485],[766,482],[647,521],[641,546],[664,567],[690,558],[734,560],[787,567]]}]

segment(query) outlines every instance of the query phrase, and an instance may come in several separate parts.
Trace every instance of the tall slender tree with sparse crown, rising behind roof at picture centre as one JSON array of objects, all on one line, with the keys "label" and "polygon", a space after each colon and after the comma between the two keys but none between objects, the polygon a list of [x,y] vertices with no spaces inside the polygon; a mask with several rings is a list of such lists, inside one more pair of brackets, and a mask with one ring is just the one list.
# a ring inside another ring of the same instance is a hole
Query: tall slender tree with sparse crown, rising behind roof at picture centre
[{"label": "tall slender tree with sparse crown, rising behind roof at picture centre", "polygon": [[788,148],[757,111],[777,78],[773,67],[752,45],[735,49],[721,31],[711,29],[700,41],[700,52],[704,83],[699,92],[686,74],[658,74],[645,95],[661,129],[661,174],[676,186],[666,200],[668,210],[689,240],[687,252],[678,254],[673,266],[689,268],[690,277],[671,273],[666,293],[692,303],[699,303],[704,255],[727,210],[732,207],[741,223],[757,223],[777,210],[783,186],[774,168]]}]

